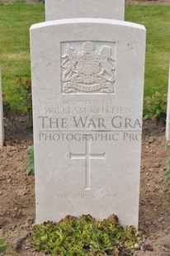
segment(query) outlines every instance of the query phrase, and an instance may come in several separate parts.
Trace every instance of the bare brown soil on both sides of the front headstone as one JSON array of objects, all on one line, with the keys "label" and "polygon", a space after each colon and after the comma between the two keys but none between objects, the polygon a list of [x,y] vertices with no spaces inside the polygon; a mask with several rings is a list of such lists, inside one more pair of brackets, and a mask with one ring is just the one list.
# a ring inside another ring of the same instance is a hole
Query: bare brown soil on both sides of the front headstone
[{"label": "bare brown soil on both sides of the front headstone", "polygon": [[[21,132],[7,124],[6,140],[0,149],[0,227],[12,243],[17,255],[35,253],[29,243],[35,223],[35,184],[33,176],[26,176],[25,149],[32,145],[29,130]],[[138,251],[135,256],[170,255],[170,187],[163,178],[168,152],[165,128],[156,121],[144,121],[142,144],[139,230],[153,245],[153,252]]]}]

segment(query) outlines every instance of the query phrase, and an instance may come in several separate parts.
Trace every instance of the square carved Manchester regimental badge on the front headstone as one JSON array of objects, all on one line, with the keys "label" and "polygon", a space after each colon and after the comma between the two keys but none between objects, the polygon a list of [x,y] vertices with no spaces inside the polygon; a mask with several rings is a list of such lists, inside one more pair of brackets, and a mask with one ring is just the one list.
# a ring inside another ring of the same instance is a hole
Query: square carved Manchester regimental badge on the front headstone
[{"label": "square carved Manchester regimental badge on the front headstone", "polygon": [[[107,43],[106,43],[107,44]],[[70,42],[62,45],[63,93],[113,93],[115,43]]]}]

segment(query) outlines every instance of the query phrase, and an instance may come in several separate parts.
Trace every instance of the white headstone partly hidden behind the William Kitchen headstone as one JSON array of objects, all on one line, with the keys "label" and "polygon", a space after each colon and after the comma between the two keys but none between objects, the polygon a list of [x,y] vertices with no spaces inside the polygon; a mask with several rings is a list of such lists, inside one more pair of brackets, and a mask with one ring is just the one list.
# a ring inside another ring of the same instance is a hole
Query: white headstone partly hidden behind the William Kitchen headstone
[{"label": "white headstone partly hidden behind the William Kitchen headstone", "polygon": [[45,0],[45,20],[106,18],[124,20],[125,0]]}]

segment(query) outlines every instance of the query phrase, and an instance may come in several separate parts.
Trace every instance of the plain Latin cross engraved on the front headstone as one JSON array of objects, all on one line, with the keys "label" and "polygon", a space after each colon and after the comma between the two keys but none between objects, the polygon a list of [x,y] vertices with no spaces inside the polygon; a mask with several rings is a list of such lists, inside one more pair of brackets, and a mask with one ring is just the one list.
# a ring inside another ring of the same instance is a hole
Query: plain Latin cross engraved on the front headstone
[{"label": "plain Latin cross engraved on the front headstone", "polygon": [[91,154],[89,140],[86,140],[85,154],[72,154],[69,152],[69,159],[85,159],[85,187],[86,190],[91,190],[91,159],[105,159],[106,152],[102,154]]}]

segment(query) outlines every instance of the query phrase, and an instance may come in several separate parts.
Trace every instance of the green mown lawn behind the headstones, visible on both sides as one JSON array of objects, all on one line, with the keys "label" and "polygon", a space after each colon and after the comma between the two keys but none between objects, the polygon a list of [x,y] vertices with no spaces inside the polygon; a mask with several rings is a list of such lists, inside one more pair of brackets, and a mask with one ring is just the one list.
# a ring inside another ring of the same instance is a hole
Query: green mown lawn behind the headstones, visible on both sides
[{"label": "green mown lawn behind the headstones, visible on both sides", "polygon": [[[170,58],[170,6],[133,6],[125,9],[125,21],[143,24],[147,29],[144,96],[167,93]],[[5,97],[12,107],[23,110],[16,93],[17,80],[31,78],[29,28],[45,21],[44,4],[0,3],[0,65]]]}]

